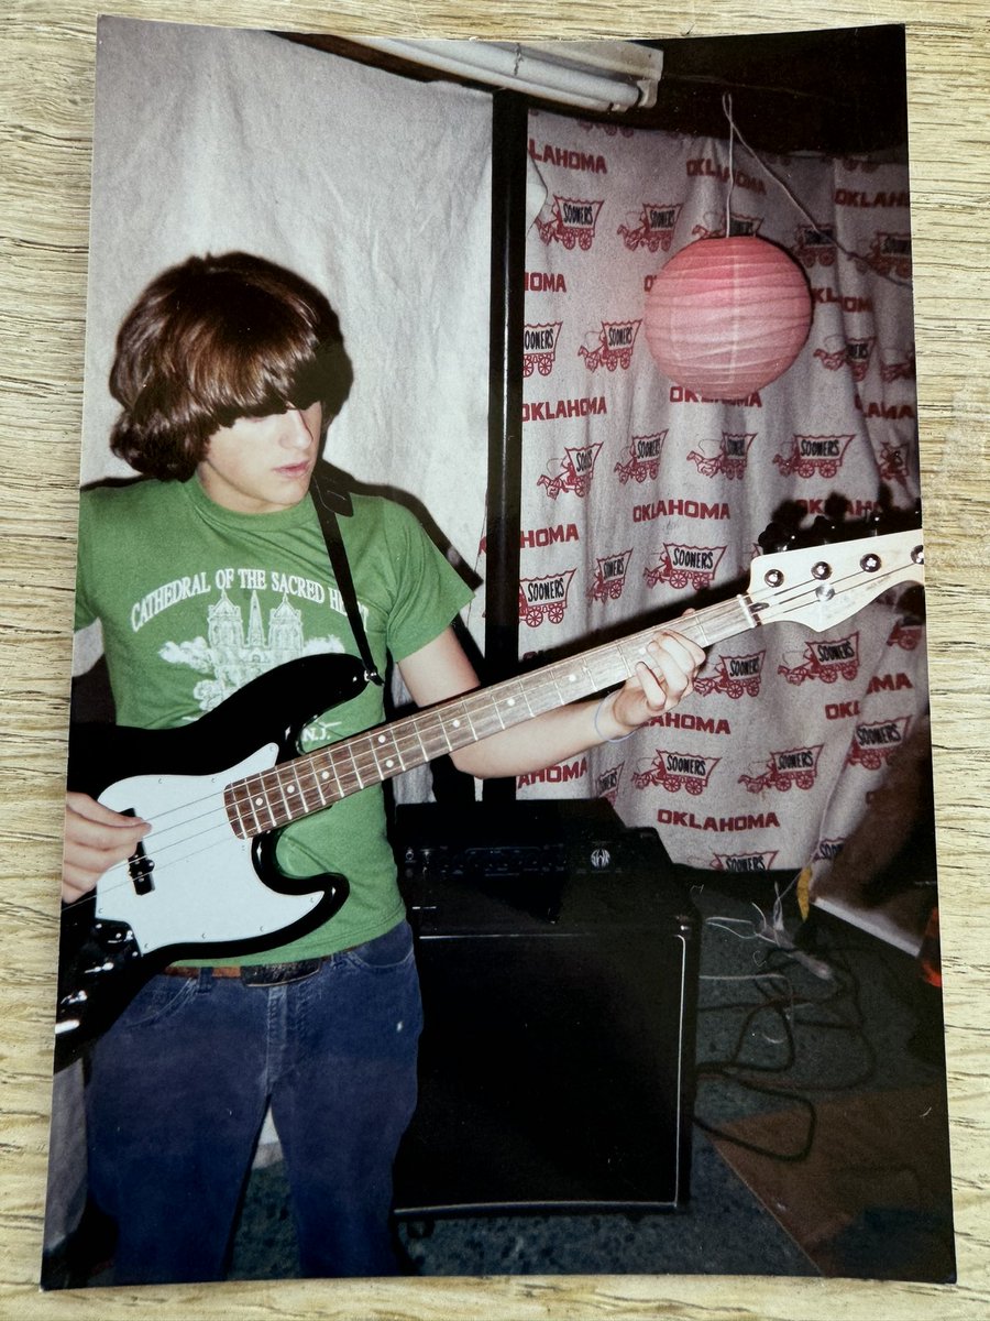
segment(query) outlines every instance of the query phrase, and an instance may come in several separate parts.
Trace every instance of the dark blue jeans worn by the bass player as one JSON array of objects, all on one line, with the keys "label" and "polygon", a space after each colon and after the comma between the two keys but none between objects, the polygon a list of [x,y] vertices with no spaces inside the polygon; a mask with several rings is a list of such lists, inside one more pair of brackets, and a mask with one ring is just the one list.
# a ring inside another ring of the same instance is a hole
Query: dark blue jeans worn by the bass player
[{"label": "dark blue jeans worn by the bass player", "polygon": [[90,1192],[114,1279],[223,1279],[271,1102],[306,1276],[396,1272],[392,1162],[422,1026],[405,922],[279,987],[154,976],[98,1042]]}]

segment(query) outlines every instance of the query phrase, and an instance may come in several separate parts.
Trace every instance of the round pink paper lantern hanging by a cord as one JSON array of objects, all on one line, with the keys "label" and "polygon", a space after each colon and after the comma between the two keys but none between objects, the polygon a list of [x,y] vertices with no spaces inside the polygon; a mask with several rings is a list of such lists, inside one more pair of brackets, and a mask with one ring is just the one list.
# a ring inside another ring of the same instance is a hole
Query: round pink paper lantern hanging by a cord
[{"label": "round pink paper lantern hanging by a cord", "polygon": [[751,235],[682,248],[653,280],[644,313],[660,370],[706,399],[739,399],[776,380],[810,322],[804,271]]}]

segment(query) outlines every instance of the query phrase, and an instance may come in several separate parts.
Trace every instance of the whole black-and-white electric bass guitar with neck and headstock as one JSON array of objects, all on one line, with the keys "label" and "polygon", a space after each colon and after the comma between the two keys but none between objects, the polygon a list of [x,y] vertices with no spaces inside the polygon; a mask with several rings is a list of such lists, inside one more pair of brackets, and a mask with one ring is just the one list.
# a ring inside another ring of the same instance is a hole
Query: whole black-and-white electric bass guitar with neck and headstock
[{"label": "whole black-and-white electric bass guitar with neck and headstock", "polygon": [[[677,621],[700,646],[783,621],[822,631],[900,583],[924,580],[920,531],[759,556],[748,589]],[[343,876],[285,876],[279,831],[368,785],[622,683],[655,626],[301,754],[319,712],[366,683],[360,660],[315,655],[252,680],[180,729],[79,725],[69,785],[150,822],[127,863],[62,911],[55,1063],[106,1030],[177,958],[271,948],[327,921]],[[279,712],[279,716],[272,716]],[[121,775],[121,770],[127,773]]]}]

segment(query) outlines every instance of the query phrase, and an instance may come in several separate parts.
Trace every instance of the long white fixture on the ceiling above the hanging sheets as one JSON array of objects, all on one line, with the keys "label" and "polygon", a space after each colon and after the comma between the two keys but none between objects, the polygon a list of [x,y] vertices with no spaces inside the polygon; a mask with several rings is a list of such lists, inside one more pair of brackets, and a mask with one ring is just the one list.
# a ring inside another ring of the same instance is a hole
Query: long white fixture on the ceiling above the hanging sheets
[{"label": "long white fixture on the ceiling above the hanging sheets", "polygon": [[579,110],[653,106],[664,55],[630,41],[405,41],[348,37],[384,54]]}]

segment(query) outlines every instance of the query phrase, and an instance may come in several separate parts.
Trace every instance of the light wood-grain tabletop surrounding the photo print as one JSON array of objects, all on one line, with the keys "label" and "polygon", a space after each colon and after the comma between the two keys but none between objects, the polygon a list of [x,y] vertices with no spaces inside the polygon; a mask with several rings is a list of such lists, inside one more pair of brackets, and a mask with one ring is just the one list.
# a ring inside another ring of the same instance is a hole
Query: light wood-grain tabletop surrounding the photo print
[{"label": "light wood-grain tabletop surrounding the photo print", "polygon": [[[40,1295],[67,723],[75,486],[96,8],[8,0],[0,17],[0,904],[3,993],[0,1317],[682,1317],[849,1321],[990,1314],[987,1275],[987,199],[985,0],[822,7],[812,0],[214,0],[211,22],[407,36],[713,36],[906,22],[929,658],[945,942],[960,1283],[760,1277],[300,1281]],[[203,21],[194,0],[116,0],[115,13]],[[841,70],[822,69],[824,81]]]}]

